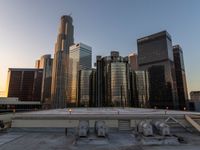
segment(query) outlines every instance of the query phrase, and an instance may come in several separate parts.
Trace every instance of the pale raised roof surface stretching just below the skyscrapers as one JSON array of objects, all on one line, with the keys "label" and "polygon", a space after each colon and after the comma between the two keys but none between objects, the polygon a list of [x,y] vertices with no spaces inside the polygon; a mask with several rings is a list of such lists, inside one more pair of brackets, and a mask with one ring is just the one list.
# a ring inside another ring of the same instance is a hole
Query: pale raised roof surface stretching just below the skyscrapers
[{"label": "pale raised roof surface stretching just below the skyscrapers", "polygon": [[18,113],[19,115],[114,115],[114,114],[132,114],[132,115],[143,115],[143,114],[196,114],[200,115],[200,112],[191,111],[176,111],[176,110],[163,110],[163,109],[146,109],[146,108],[66,108],[66,109],[50,109],[42,111],[33,111],[26,113]]}]

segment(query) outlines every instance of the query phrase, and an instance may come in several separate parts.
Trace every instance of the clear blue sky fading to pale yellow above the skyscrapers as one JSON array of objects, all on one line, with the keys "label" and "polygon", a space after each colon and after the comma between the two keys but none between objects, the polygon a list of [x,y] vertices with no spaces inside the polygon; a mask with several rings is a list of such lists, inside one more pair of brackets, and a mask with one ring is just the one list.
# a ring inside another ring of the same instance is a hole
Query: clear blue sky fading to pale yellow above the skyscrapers
[{"label": "clear blue sky fading to pale yellow above the skyscrapers", "polygon": [[200,0],[1,0],[0,90],[9,67],[53,54],[60,17],[72,14],[75,42],[96,55],[137,51],[140,37],[167,30],[184,52],[188,89],[200,90]]}]

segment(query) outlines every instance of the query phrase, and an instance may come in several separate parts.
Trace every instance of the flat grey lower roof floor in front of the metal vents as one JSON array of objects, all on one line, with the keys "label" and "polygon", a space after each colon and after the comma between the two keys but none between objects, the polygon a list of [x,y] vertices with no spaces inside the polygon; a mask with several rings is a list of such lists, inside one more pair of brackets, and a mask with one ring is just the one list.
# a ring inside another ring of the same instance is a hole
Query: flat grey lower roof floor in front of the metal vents
[{"label": "flat grey lower roof floor in front of the metal vents", "polygon": [[61,132],[8,132],[0,134],[0,150],[199,150],[200,136],[177,133],[181,144],[141,145],[132,133],[113,132],[106,138],[79,139]]}]

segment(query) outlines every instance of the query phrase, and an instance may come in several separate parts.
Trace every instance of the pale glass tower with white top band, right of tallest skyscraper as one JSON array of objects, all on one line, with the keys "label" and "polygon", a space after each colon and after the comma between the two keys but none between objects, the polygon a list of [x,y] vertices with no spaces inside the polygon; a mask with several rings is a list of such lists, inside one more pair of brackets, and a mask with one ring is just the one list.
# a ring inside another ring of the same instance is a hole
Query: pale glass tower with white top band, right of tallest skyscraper
[{"label": "pale glass tower with white top band, right of tallest skyscraper", "polygon": [[78,105],[78,72],[81,69],[92,68],[92,48],[83,43],[70,46],[68,71],[68,97],[69,106]]}]

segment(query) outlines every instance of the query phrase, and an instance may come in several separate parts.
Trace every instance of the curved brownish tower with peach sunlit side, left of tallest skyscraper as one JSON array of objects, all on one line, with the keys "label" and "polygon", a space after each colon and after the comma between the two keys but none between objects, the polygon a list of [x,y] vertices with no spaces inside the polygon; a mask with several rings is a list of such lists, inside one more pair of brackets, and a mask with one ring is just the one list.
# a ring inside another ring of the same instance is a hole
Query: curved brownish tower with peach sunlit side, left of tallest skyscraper
[{"label": "curved brownish tower with peach sunlit side, left of tallest skyscraper", "polygon": [[51,106],[51,80],[52,80],[53,59],[50,54],[43,55],[40,60],[36,61],[36,67],[43,69],[41,102],[43,108]]}]

